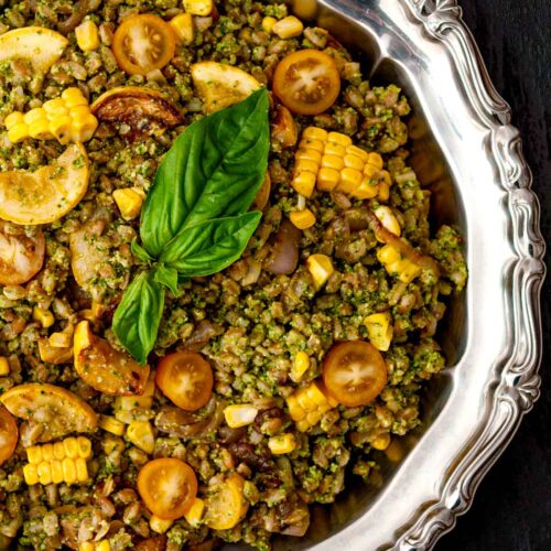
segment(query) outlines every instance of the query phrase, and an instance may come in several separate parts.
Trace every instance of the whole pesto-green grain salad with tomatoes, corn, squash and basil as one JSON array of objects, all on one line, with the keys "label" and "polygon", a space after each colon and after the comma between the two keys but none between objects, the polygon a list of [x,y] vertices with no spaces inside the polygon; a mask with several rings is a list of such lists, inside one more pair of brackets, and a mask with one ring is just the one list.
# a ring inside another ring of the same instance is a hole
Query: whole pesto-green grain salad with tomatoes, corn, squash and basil
[{"label": "whole pesto-green grain salad with tomatoes, corn, squash and basil", "polygon": [[304,536],[467,279],[408,99],[284,3],[0,7],[0,549]]}]

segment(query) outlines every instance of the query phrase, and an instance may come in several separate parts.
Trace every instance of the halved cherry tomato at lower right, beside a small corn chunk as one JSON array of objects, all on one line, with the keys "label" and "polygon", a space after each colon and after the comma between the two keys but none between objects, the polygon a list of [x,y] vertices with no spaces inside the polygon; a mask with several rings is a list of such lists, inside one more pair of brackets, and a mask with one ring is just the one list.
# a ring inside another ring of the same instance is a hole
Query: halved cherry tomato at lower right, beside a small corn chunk
[{"label": "halved cherry tomato at lower right, beside a small corn chunk", "polygon": [[325,388],[343,406],[369,403],[385,388],[387,378],[387,365],[379,350],[364,341],[338,343],[323,359]]}]

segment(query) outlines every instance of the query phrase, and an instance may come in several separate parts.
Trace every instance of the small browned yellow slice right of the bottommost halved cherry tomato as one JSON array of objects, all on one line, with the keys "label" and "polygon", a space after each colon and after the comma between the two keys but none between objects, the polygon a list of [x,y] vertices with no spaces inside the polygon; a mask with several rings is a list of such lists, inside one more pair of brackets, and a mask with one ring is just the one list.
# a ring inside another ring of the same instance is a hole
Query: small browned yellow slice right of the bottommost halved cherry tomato
[{"label": "small browned yellow slice right of the bottommost halved cherry tomato", "polygon": [[229,530],[247,515],[248,501],[244,497],[245,480],[233,474],[209,488],[205,523],[213,530]]}]

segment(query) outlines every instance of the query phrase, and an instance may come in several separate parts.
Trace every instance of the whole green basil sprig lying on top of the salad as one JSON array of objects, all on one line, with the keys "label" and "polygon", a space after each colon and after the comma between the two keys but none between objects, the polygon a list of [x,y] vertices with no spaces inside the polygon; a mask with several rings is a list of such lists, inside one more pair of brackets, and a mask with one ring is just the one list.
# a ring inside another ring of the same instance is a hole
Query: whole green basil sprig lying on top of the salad
[{"label": "whole green basil sprig lying on top of the salad", "polygon": [[155,174],[140,219],[148,264],[128,285],[112,328],[125,348],[145,364],[163,314],[165,289],[182,279],[210,276],[235,262],[260,222],[251,212],[268,166],[268,93],[191,125]]}]

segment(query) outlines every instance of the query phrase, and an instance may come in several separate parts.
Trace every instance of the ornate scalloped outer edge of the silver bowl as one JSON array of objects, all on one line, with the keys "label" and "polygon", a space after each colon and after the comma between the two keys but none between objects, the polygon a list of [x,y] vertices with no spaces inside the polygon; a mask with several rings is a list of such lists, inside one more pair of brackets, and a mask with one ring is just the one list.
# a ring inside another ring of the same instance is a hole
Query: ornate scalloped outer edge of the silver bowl
[{"label": "ornate scalloped outer edge of the silver bowl", "polygon": [[505,296],[510,343],[496,361],[496,378],[486,401],[486,422],[465,445],[461,462],[442,482],[440,500],[423,504],[388,548],[431,549],[468,510],[474,494],[539,398],[541,359],[540,292],[545,277],[545,242],[540,233],[540,205],[531,191],[532,175],[521,149],[511,110],[496,91],[457,0],[404,0],[432,39],[451,53],[479,120],[491,133],[494,161],[508,195],[507,210],[517,258],[508,266]]}]

